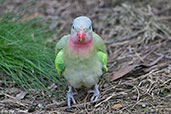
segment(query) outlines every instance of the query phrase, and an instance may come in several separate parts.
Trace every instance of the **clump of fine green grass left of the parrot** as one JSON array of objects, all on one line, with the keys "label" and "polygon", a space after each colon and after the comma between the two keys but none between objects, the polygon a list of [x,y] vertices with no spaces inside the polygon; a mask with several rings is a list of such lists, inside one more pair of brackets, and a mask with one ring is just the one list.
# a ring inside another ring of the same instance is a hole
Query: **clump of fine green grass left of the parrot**
[{"label": "clump of fine green grass left of the parrot", "polygon": [[38,21],[0,20],[0,72],[25,90],[48,91],[49,84],[61,82],[54,66],[54,49],[47,47],[44,38],[47,33],[37,26]]}]

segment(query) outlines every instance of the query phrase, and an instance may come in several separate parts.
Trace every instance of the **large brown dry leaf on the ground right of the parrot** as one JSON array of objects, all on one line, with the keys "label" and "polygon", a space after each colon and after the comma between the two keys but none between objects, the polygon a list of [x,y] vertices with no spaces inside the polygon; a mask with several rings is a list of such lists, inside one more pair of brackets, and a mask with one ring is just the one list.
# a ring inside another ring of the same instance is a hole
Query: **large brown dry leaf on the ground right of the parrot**
[{"label": "large brown dry leaf on the ground right of the parrot", "polygon": [[121,68],[119,71],[114,72],[110,81],[113,81],[113,80],[116,80],[118,78],[125,76],[130,71],[132,71],[136,66],[138,65],[134,64],[134,65],[126,66],[126,67]]}]

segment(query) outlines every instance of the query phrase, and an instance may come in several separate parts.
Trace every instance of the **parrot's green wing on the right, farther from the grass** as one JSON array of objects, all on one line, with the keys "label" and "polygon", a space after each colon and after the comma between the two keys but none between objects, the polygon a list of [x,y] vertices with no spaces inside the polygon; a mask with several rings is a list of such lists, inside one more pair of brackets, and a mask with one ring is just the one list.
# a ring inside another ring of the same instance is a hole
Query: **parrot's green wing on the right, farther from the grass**
[{"label": "parrot's green wing on the right, farther from the grass", "polygon": [[106,46],[104,44],[103,39],[93,32],[93,40],[94,40],[94,45],[97,50],[97,55],[99,57],[99,61],[103,66],[104,72],[107,72],[107,51],[106,51]]}]

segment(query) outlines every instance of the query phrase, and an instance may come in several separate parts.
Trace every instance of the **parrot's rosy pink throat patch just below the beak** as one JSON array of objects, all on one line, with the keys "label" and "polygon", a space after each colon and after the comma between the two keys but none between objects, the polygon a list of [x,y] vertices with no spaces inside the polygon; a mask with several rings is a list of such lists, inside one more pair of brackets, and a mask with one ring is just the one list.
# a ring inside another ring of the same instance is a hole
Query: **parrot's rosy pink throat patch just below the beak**
[{"label": "parrot's rosy pink throat patch just below the beak", "polygon": [[69,48],[71,52],[76,52],[79,55],[88,54],[93,47],[92,37],[85,34],[82,41],[79,40],[76,34],[73,34],[68,40]]}]

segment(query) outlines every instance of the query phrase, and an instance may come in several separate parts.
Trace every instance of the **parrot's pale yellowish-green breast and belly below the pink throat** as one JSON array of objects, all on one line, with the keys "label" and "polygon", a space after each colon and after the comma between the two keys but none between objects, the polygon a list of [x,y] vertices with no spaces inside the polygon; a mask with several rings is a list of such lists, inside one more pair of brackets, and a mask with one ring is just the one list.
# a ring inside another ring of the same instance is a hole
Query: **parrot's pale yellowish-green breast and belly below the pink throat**
[{"label": "parrot's pale yellowish-green breast and belly below the pink throat", "polygon": [[65,71],[63,75],[74,88],[85,86],[87,88],[97,84],[102,75],[102,65],[98,59],[93,42],[76,49],[73,44],[64,48]]}]

